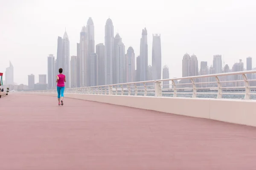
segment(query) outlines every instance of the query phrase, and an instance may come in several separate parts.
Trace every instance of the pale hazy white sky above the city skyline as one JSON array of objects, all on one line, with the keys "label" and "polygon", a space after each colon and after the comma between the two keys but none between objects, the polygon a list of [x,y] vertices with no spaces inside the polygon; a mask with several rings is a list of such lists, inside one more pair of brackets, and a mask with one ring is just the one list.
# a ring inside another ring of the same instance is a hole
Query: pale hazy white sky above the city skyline
[{"label": "pale hazy white sky above the city skyline", "polygon": [[[0,0],[0,72],[5,74],[11,60],[14,81],[28,84],[28,75],[47,74],[47,56],[57,54],[57,38],[65,27],[70,38],[70,56],[76,55],[81,27],[92,17],[95,45],[104,43],[105,23],[113,21],[125,44],[140,53],[140,37],[148,30],[151,64],[152,34],[161,34],[162,67],[170,77],[182,76],[185,53],[212,65],[214,54],[225,64],[246,57],[256,67],[255,0]],[[4,78],[5,79],[5,78]]]}]

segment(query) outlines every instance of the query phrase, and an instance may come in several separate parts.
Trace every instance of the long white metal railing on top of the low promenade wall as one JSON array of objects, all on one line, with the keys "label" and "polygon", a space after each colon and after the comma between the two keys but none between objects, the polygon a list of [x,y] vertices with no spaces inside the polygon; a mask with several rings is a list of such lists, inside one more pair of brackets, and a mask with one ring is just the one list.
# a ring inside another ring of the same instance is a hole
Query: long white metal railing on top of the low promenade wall
[{"label": "long white metal railing on top of the low promenade wall", "polygon": [[[180,77],[174,79],[99,85],[93,87],[68,88],[65,89],[64,93],[192,98],[204,97],[218,99],[256,99],[256,79],[247,79],[247,74],[256,74],[256,71],[241,71],[224,74]],[[177,80],[180,80],[179,83],[177,83]],[[57,93],[56,90],[23,92]]]}]

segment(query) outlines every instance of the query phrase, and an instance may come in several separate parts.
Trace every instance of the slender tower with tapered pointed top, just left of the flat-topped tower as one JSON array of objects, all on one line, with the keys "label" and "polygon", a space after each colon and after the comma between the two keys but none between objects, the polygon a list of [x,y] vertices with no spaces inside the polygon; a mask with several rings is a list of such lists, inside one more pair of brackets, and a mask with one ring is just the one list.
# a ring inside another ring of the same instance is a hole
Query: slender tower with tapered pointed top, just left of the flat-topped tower
[{"label": "slender tower with tapered pointed top, just left of the flat-topped tower", "polygon": [[[138,67],[137,67],[138,69]],[[146,28],[142,30],[140,39],[140,81],[151,80],[152,77],[147,77],[148,74],[148,31]],[[149,74],[148,74],[149,75]]]}]

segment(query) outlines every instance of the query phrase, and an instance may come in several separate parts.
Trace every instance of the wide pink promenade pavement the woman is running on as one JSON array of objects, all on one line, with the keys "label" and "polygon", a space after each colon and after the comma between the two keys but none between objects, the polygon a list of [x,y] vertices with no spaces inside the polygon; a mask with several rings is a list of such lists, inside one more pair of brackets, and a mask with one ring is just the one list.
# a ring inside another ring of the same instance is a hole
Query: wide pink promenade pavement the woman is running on
[{"label": "wide pink promenade pavement the woman is running on", "polygon": [[255,170],[256,128],[104,103],[0,99],[0,170]]}]

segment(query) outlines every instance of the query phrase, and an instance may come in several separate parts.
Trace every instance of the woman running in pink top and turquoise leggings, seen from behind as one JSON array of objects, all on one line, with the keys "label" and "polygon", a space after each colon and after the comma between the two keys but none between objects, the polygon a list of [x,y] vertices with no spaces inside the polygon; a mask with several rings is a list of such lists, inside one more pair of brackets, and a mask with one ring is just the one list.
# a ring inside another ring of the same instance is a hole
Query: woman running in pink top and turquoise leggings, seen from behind
[{"label": "woman running in pink top and turquoise leggings, seen from behind", "polygon": [[63,105],[64,89],[66,82],[66,76],[62,74],[63,69],[59,68],[59,73],[57,77],[57,92],[58,92],[58,105]]}]

